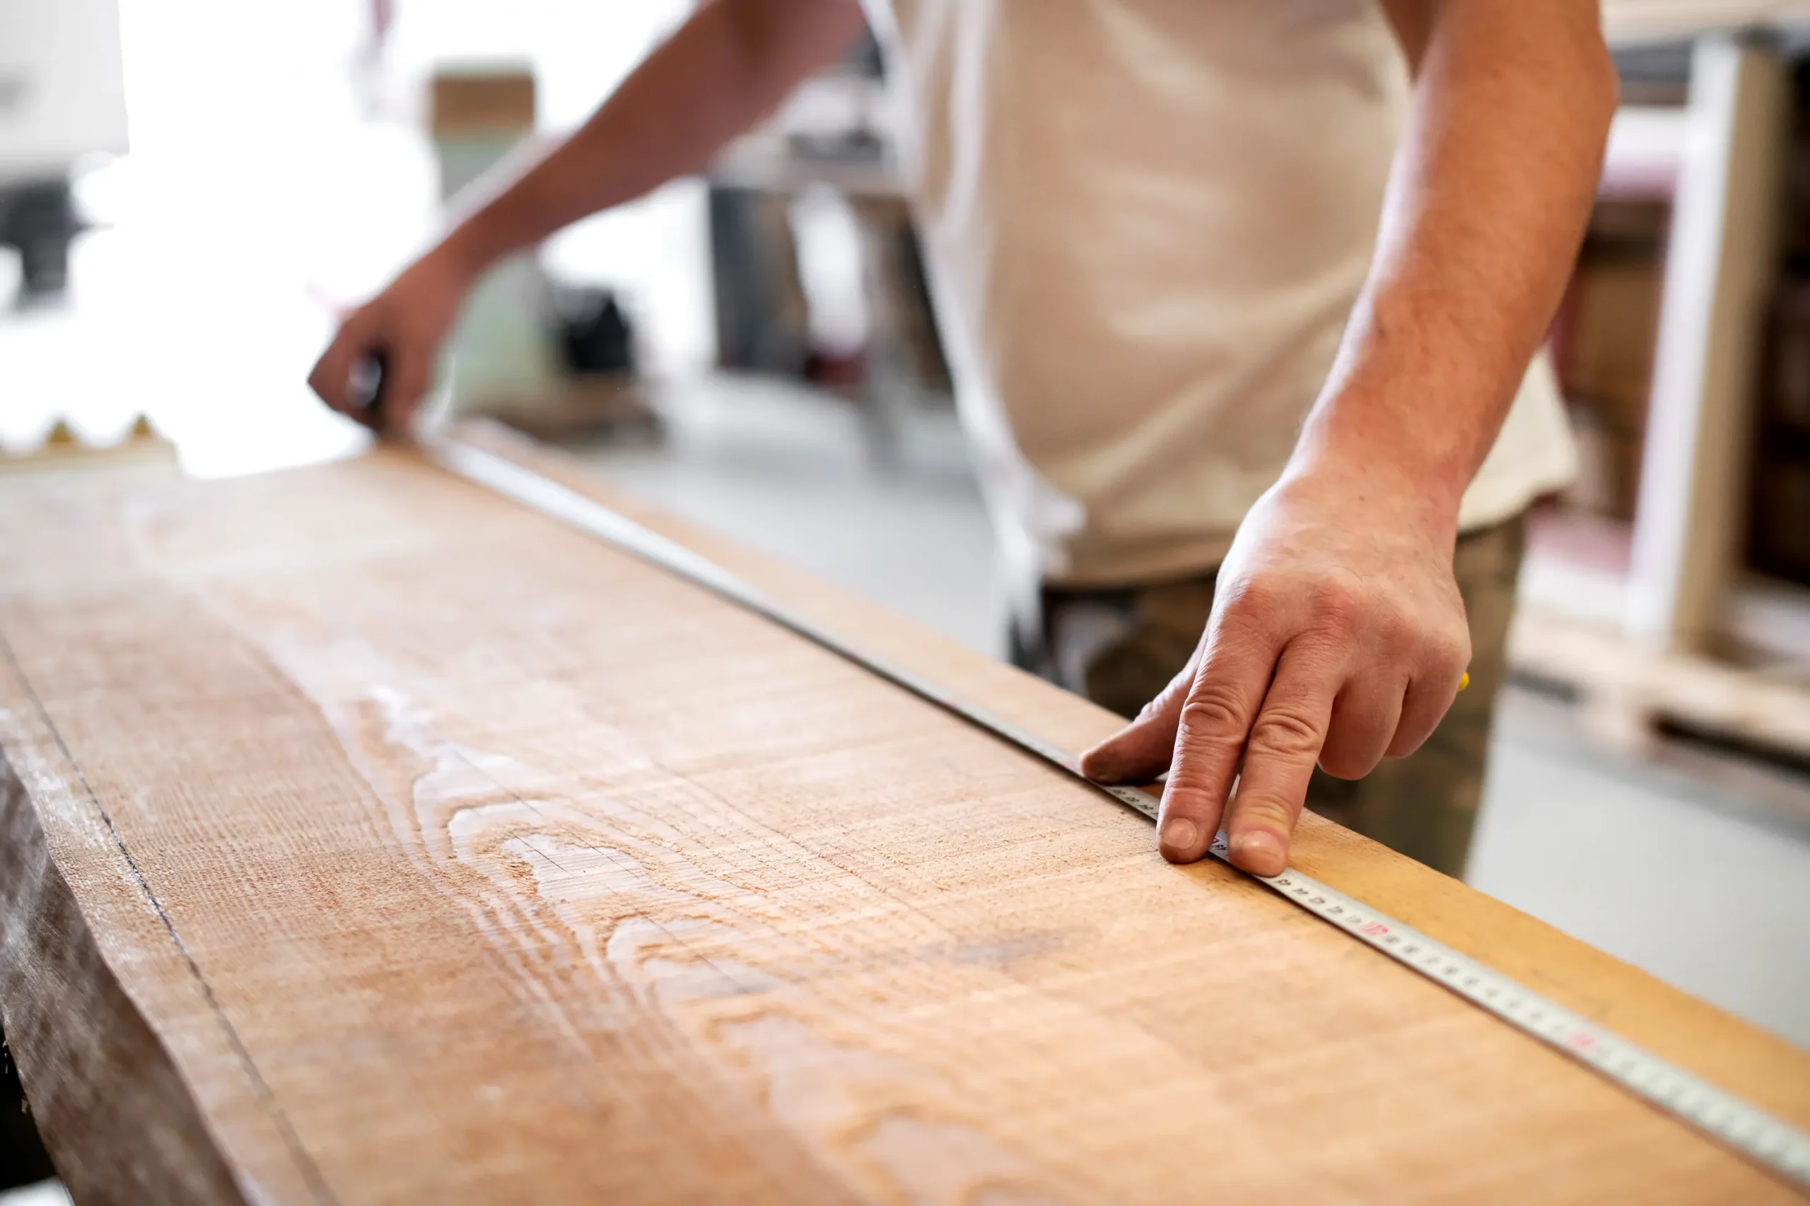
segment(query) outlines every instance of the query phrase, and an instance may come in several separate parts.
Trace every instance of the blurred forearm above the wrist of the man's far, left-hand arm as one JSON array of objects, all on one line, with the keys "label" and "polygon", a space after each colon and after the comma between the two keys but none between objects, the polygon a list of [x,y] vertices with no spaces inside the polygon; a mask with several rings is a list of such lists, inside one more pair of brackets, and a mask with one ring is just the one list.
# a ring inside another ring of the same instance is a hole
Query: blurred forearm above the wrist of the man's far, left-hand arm
[{"label": "blurred forearm above the wrist of the man's far, left-hand arm", "polygon": [[713,0],[440,244],[472,272],[699,172],[862,31],[856,0]]}]

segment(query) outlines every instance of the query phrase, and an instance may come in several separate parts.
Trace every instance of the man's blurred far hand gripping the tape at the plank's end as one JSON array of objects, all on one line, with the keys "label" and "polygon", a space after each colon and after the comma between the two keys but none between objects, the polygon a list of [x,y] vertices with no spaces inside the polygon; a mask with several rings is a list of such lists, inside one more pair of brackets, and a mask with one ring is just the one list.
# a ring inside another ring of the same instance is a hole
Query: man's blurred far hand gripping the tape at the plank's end
[{"label": "man's blurred far hand gripping the tape at the plank's end", "polygon": [[[445,342],[458,308],[471,292],[474,273],[445,244],[353,310],[308,375],[320,400],[371,427],[407,431],[433,380],[434,359]],[[353,397],[353,371],[360,360],[384,360],[384,411],[373,415],[366,398]]]}]

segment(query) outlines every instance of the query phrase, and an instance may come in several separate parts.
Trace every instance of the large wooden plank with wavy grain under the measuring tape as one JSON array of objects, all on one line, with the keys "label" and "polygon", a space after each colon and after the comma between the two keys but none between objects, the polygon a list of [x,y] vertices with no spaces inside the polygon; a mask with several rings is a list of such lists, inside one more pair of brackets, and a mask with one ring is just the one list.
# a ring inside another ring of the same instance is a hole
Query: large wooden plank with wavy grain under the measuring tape
[{"label": "large wooden plank with wavy grain under the measuring tape", "polygon": [[[0,545],[0,744],[248,1201],[1794,1201],[1088,788],[407,455],[45,483]],[[1068,744],[1110,724],[762,581]],[[1810,1117],[1803,1052],[1325,822],[1300,862]]]}]

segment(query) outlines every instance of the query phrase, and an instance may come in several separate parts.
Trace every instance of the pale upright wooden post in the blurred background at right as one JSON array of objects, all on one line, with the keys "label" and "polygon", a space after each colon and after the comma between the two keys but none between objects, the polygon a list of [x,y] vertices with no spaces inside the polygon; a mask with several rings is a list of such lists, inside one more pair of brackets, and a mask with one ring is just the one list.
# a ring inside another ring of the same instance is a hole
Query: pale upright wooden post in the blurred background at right
[{"label": "pale upright wooden post in the blurred background at right", "polygon": [[1698,652],[1718,632],[1747,532],[1788,112],[1776,49],[1696,43],[1627,581],[1627,632],[1653,648]]}]

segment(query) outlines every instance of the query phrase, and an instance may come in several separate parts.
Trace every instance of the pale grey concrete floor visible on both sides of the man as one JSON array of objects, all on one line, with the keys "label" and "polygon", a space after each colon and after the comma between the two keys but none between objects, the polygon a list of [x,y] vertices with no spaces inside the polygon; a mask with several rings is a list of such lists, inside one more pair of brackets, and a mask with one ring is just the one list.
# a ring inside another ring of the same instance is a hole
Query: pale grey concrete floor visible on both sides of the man
[{"label": "pale grey concrete floor visible on both sides of the man", "polygon": [[[1003,650],[992,536],[954,416],[764,382],[670,389],[668,438],[585,458],[632,493],[974,648]],[[1810,779],[1729,755],[1595,748],[1504,695],[1470,882],[1810,1047]]]}]

